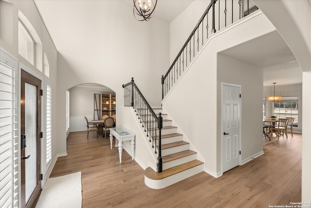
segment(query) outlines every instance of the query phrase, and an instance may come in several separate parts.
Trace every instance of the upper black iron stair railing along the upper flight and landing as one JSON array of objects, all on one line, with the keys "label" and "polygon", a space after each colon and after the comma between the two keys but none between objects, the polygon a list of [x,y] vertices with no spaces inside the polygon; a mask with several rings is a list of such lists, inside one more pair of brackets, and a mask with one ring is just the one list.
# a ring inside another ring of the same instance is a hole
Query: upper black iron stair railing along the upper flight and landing
[{"label": "upper black iron stair railing along the upper flight and landing", "polygon": [[[218,5],[216,4],[217,1]],[[245,12],[244,12],[244,1],[247,4],[247,11]],[[203,13],[201,19],[195,25],[194,29],[190,33],[189,38],[186,40],[185,44],[177,54],[177,57],[174,59],[171,67],[169,68],[165,76],[162,75],[161,77],[162,99],[173,88],[175,82],[177,82],[177,80],[183,74],[184,70],[189,66],[191,60],[193,60],[195,55],[198,54],[201,47],[207,41],[209,35],[216,33],[215,6],[218,7],[218,31],[221,28],[226,27],[229,22],[233,23],[235,20],[241,19],[241,17],[245,17],[250,12],[254,12],[258,9],[258,7],[256,6],[250,9],[249,0],[222,0],[222,1],[211,0],[211,2],[207,6],[207,9]],[[221,8],[224,9],[222,11],[223,13],[221,13]],[[238,14],[239,16],[234,17],[233,15],[234,11],[238,8],[239,8]],[[210,9],[212,10],[211,12]],[[208,31],[210,25],[212,28],[210,31]]]}]

